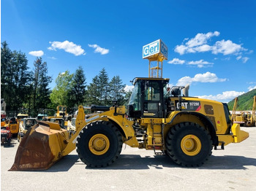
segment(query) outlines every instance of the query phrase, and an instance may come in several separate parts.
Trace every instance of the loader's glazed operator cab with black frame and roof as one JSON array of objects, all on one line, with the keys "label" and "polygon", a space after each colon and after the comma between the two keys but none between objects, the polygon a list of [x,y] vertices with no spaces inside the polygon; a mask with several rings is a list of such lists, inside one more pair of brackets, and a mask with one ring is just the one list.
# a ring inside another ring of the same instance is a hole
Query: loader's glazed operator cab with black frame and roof
[{"label": "loader's glazed operator cab with black frame and roof", "polygon": [[135,78],[128,103],[128,117],[165,117],[165,98],[169,79]]}]

